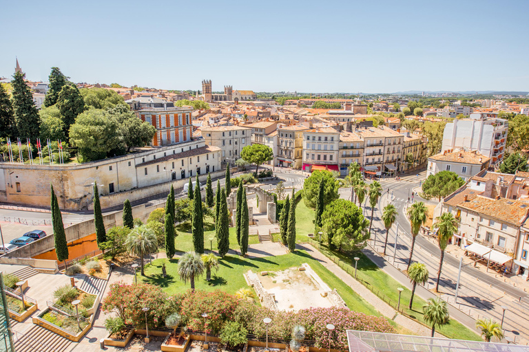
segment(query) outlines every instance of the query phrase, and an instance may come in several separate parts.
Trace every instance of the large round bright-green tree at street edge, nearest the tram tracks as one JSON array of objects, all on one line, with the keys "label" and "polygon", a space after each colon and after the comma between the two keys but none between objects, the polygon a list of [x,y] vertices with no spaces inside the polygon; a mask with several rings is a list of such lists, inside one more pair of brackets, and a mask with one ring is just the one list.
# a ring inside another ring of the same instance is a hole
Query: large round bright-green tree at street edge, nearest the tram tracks
[{"label": "large round bright-green tree at street edge, nearest the tram tracks", "polygon": [[360,250],[369,239],[366,228],[369,221],[362,209],[352,201],[337,199],[326,206],[322,214],[322,227],[329,241],[329,248],[338,250]]}]

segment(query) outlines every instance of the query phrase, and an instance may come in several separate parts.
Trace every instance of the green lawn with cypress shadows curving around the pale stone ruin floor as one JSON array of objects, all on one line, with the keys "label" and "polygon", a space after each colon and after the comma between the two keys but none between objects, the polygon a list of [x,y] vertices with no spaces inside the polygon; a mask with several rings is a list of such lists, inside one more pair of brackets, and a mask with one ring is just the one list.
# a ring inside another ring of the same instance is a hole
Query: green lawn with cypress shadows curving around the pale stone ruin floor
[{"label": "green lawn with cypress shadows curving around the pale stone ruin floor", "polygon": [[[167,277],[165,278],[161,274],[163,261],[165,261],[165,267],[167,269]],[[211,282],[208,283],[205,280],[205,276],[199,277],[196,280],[195,287],[196,289],[203,289],[205,291],[222,289],[222,291],[234,294],[241,287],[248,287],[245,278],[242,276],[248,270],[252,270],[253,272],[275,272],[285,270],[289,267],[299,267],[302,263],[311,265],[311,268],[331,289],[337,289],[351,310],[375,316],[380,315],[373,306],[366,303],[351,287],[344,284],[343,281],[304,251],[256,259],[228,255],[225,259],[219,260],[219,270],[218,272],[211,273]],[[138,281],[158,285],[168,294],[185,292],[190,287],[189,283],[185,284],[178,277],[178,259],[172,259],[171,261],[167,261],[167,259],[156,259],[152,262],[152,265],[145,266],[145,277],[142,277],[138,273]]]}]

